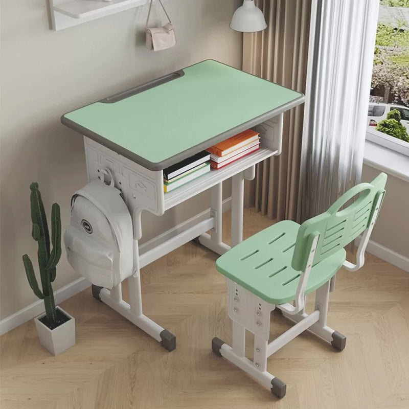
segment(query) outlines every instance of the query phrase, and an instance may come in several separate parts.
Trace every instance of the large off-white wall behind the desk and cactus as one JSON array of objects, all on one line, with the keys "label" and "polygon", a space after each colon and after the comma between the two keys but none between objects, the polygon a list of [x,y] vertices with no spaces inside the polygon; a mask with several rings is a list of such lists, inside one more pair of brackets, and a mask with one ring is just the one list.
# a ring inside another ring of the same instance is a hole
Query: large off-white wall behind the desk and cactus
[{"label": "large off-white wall behind the desk and cactus", "polygon": [[[63,228],[71,195],[86,183],[82,137],[60,123],[61,115],[203,59],[240,67],[242,37],[228,27],[239,3],[165,0],[178,42],[158,53],[144,47],[147,6],[55,32],[46,0],[2,4],[0,319],[37,300],[21,261],[28,253],[36,266],[30,183],[38,181],[48,214],[60,204]],[[145,238],[191,216],[195,206],[208,203],[196,198],[162,218],[145,215]],[[63,252],[54,289],[76,278]]]}]

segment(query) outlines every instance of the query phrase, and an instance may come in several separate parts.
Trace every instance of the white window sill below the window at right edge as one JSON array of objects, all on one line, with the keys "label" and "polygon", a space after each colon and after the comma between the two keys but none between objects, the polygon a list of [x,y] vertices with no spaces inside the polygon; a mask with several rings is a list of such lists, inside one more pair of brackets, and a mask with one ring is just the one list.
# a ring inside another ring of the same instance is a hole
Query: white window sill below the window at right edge
[{"label": "white window sill below the window at right edge", "polygon": [[409,157],[371,141],[365,141],[363,163],[409,182]]}]

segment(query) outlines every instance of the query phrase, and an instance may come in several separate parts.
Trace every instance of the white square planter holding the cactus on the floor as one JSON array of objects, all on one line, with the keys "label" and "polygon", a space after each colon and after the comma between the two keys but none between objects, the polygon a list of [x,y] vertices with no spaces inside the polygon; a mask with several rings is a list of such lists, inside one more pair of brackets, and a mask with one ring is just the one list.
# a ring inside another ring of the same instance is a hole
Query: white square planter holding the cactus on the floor
[{"label": "white square planter holding the cactus on the floor", "polygon": [[54,355],[60,354],[75,344],[75,319],[62,308],[57,308],[69,317],[70,320],[53,330],[39,320],[44,316],[44,313],[34,319],[40,344]]}]

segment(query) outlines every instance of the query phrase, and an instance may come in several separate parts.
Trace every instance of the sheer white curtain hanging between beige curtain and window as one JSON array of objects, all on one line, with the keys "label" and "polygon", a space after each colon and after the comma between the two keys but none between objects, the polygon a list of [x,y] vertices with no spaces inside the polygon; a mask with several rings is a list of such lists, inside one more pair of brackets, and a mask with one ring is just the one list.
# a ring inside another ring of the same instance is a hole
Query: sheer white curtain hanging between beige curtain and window
[{"label": "sheer white curtain hanging between beige curtain and window", "polygon": [[361,177],[379,0],[313,0],[298,219]]}]

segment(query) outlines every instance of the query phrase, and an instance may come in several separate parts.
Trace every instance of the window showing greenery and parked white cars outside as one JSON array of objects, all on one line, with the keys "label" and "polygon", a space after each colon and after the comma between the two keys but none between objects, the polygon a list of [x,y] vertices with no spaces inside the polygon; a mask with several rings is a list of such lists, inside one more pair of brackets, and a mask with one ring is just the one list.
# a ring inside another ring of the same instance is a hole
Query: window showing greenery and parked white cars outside
[{"label": "window showing greenery and parked white cars outside", "polygon": [[409,152],[408,66],[409,0],[380,0],[367,140],[403,154]]}]

